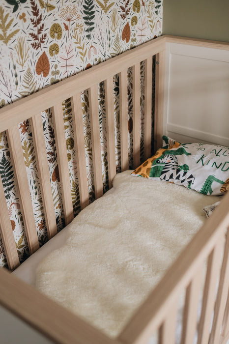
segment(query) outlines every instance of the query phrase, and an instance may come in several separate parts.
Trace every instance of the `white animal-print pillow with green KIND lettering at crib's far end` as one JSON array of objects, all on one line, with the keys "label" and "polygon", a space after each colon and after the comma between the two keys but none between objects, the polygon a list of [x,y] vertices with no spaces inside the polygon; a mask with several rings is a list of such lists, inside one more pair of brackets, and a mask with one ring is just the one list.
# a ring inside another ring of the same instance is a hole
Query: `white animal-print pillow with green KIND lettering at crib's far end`
[{"label": "white animal-print pillow with green KIND lettering at crib's far end", "polygon": [[183,185],[204,195],[229,189],[229,147],[179,143],[163,136],[163,147],[132,175]]}]

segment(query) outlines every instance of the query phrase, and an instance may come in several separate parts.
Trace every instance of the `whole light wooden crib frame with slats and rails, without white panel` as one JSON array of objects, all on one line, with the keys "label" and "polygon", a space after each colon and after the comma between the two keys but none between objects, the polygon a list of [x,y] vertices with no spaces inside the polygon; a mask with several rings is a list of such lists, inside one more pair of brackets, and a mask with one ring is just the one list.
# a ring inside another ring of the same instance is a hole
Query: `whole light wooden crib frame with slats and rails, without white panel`
[{"label": "whole light wooden crib frame with slats and rails, without white panel", "polygon": [[[103,194],[101,172],[101,153],[98,120],[97,85],[105,81],[109,185],[115,171],[114,152],[114,107],[113,76],[119,74],[120,80],[120,131],[121,131],[121,169],[128,169],[127,150],[127,69],[133,67],[133,151],[134,166],[140,163],[140,62],[145,61],[145,157],[151,149],[151,109],[152,109],[152,56],[156,55],[155,82],[155,134],[156,147],[161,143],[163,132],[164,73],[165,50],[167,42],[213,47],[229,50],[229,44],[162,36],[147,42],[120,56],[107,60],[78,75],[70,77],[56,85],[6,106],[0,110],[0,131],[6,131],[11,158],[17,172],[21,207],[32,254],[39,247],[29,194],[18,123],[29,119],[41,191],[44,202],[45,219],[49,238],[57,233],[50,175],[48,169],[43,127],[40,113],[52,108],[57,144],[57,159],[60,174],[61,192],[65,223],[73,219],[73,207],[70,192],[67,152],[64,137],[64,123],[61,102],[71,97],[74,114],[75,142],[77,147],[77,166],[80,186],[81,208],[88,204],[86,180],[86,160],[84,152],[83,122],[81,110],[81,91],[89,90],[90,121],[92,131],[92,152],[96,198]],[[197,324],[197,308],[201,289],[202,268],[207,261],[202,309],[199,322],[198,344],[226,344],[229,339],[229,195],[206,221],[202,229],[174,262],[162,281],[151,292],[136,315],[130,320],[118,338],[111,339],[93,328],[76,315],[57,305],[34,287],[17,279],[5,269],[0,269],[0,305],[25,320],[55,343],[93,343],[93,344],[130,344],[147,343],[154,331],[159,333],[159,342],[174,343],[178,298],[182,289],[186,289],[183,314],[181,343],[193,343]],[[8,209],[0,180],[0,232],[8,266],[11,270],[19,265]],[[223,254],[223,260],[222,260]],[[220,271],[219,287],[217,272]],[[210,331],[211,316],[214,312]],[[210,333],[210,335],[209,335]]]}]

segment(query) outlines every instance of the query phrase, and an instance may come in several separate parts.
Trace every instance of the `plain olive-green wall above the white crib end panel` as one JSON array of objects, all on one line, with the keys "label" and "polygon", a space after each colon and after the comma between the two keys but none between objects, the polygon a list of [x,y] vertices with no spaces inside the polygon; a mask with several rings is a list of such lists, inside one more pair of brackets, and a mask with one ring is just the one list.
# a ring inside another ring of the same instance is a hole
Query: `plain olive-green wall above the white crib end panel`
[{"label": "plain olive-green wall above the white crib end panel", "polygon": [[229,0],[163,0],[163,34],[229,42]]}]

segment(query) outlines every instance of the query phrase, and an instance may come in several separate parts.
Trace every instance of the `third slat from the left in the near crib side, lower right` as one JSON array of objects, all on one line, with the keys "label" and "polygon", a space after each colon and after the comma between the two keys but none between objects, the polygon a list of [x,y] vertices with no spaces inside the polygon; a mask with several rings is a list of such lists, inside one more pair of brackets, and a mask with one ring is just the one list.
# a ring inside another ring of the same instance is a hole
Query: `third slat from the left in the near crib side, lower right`
[{"label": "third slat from the left in the near crib side, lower right", "polygon": [[224,237],[221,237],[208,258],[200,323],[198,327],[198,344],[208,343],[209,340],[210,324],[215,304],[215,292],[223,245]]}]

